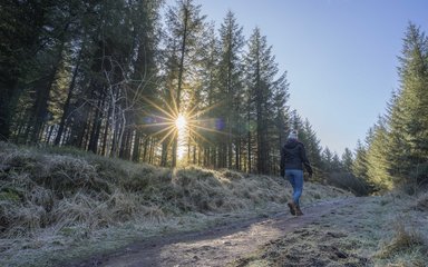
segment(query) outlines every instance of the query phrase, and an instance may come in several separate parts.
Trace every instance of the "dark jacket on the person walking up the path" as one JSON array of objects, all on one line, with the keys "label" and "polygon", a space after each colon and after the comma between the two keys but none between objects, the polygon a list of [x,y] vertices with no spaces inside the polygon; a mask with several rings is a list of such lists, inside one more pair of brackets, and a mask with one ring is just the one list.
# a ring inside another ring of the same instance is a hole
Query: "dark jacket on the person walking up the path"
[{"label": "dark jacket on the person walking up the path", "polygon": [[281,149],[281,176],[285,175],[285,169],[303,170],[302,165],[304,165],[309,175],[312,175],[311,164],[307,158],[303,144],[295,139],[289,139]]}]

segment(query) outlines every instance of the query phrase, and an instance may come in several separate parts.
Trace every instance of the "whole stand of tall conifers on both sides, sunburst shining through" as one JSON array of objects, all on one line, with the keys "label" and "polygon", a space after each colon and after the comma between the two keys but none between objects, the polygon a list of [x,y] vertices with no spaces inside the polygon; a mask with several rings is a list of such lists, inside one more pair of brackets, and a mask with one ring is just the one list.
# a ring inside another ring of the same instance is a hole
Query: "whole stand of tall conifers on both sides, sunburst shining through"
[{"label": "whole stand of tall conifers on both sides, sunburst shining through", "polygon": [[[6,1],[0,12],[1,140],[278,175],[294,128],[319,174],[353,171],[383,188],[390,175],[426,166],[428,49],[415,26],[388,116],[339,158],[290,110],[286,72],[266,37],[259,28],[244,37],[232,11],[218,29],[192,0]],[[188,120],[184,145],[178,113]]]}]

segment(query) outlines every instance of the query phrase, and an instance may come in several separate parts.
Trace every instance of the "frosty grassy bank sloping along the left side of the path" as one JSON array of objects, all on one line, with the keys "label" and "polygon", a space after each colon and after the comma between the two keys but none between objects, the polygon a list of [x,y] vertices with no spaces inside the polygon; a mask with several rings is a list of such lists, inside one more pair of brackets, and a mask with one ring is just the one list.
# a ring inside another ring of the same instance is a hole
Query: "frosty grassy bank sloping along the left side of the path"
[{"label": "frosty grassy bank sloping along the left side of the path", "polygon": [[[0,266],[56,266],[136,239],[284,209],[280,177],[157,168],[0,142]],[[303,205],[350,194],[307,184]]]}]

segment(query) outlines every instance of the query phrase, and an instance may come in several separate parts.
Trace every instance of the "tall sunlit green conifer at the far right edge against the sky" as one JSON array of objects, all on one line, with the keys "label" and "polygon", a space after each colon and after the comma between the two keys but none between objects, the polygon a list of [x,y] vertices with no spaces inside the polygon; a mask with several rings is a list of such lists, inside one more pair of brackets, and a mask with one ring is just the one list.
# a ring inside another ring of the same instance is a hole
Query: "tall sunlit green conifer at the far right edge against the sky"
[{"label": "tall sunlit green conifer at the far right edge against the sky", "polygon": [[428,162],[428,40],[410,23],[399,57],[400,89],[390,112],[390,162],[397,182]]}]

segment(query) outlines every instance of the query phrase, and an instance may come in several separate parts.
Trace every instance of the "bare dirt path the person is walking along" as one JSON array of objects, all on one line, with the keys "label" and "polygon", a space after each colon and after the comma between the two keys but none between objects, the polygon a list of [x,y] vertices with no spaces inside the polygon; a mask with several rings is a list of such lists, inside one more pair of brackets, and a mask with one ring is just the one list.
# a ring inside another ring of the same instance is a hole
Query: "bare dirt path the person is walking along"
[{"label": "bare dirt path the person is walking along", "polygon": [[334,212],[333,209],[356,201],[357,198],[323,201],[304,207],[304,216],[301,217],[293,217],[286,210],[270,218],[245,220],[202,233],[157,238],[74,266],[226,266],[260,246]]}]

